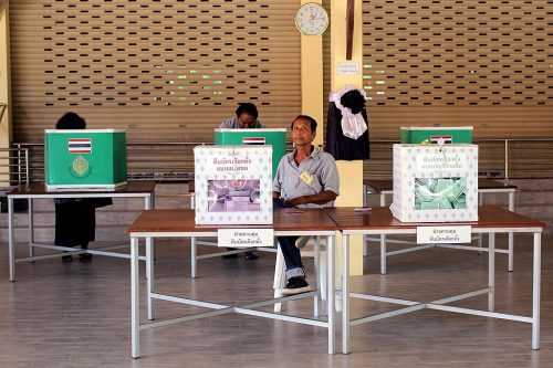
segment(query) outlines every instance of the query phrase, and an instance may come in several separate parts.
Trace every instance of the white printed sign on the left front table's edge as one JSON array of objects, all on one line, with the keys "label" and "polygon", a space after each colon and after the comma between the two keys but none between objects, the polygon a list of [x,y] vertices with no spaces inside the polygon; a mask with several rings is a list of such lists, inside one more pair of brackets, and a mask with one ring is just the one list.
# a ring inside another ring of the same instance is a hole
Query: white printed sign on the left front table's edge
[{"label": "white printed sign on the left front table's edge", "polygon": [[273,246],[273,229],[219,229],[217,245],[225,248]]}]

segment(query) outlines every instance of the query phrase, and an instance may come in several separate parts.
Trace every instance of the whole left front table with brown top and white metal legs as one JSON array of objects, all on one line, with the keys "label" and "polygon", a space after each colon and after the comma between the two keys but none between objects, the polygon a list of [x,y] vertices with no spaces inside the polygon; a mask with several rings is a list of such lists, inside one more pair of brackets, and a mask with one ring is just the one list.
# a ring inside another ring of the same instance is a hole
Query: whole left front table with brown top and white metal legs
[{"label": "whole left front table with brown top and white metal legs", "polygon": [[[195,301],[181,296],[166,295],[155,292],[154,290],[154,263],[152,250],[149,248],[152,242],[147,242],[146,246],[146,264],[147,270],[150,270],[150,276],[147,277],[147,303],[148,303],[148,319],[154,319],[154,299],[164,299],[187,305],[196,305],[215,309],[211,312],[200,313],[191,316],[180,318],[173,318],[166,320],[156,320],[140,325],[139,319],[139,284],[138,284],[138,241],[139,239],[152,240],[154,238],[209,238],[217,236],[218,229],[236,229],[244,227],[213,227],[213,225],[196,225],[195,211],[187,210],[153,210],[144,211],[138,219],[127,229],[131,234],[131,305],[132,305],[132,357],[140,357],[140,330],[158,326],[166,326],[185,320],[192,320],[197,318],[210,317],[213,315],[221,315],[227,313],[248,314],[259,317],[273,318],[280,320],[289,320],[300,324],[319,326],[327,328],[328,330],[328,354],[334,354],[334,235],[337,230],[336,224],[322,209],[276,209],[274,210],[272,225],[254,225],[249,228],[255,229],[272,229],[274,235],[320,235],[327,236],[326,242],[326,256],[327,256],[327,283],[326,283],[326,314],[327,320],[319,318],[301,318],[294,316],[285,316],[270,312],[257,311],[254,308],[282,303],[285,301],[296,299],[301,297],[314,297],[314,315],[321,314],[321,290],[317,285],[316,291],[311,293],[303,293],[299,295],[285,296],[274,299],[262,301],[259,303],[250,303],[242,306],[222,305],[206,301]],[[158,245],[159,246],[159,245]],[[319,250],[316,249],[315,252]],[[319,257],[315,256],[315,260]],[[319,273],[319,267],[315,265],[315,273]],[[319,280],[315,275],[314,280]],[[232,281],[229,281],[231,283]],[[268,285],[270,287],[270,285]]]}]

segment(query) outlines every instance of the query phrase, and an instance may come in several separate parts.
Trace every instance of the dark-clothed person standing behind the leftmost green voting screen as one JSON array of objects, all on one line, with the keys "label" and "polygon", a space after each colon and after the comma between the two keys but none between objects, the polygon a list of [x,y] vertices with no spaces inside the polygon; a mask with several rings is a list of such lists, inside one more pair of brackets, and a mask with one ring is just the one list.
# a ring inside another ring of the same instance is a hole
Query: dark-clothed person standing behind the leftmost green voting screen
[{"label": "dark-clothed person standing behind the leftmost green voting screen", "polygon": [[[75,113],[66,113],[55,125],[56,129],[85,129],[86,122]],[[55,198],[55,240],[60,246],[88,249],[96,231],[96,208],[109,206],[111,198]],[[92,254],[79,254],[81,262],[91,262]],[[63,262],[72,262],[72,255],[63,255]]]}]

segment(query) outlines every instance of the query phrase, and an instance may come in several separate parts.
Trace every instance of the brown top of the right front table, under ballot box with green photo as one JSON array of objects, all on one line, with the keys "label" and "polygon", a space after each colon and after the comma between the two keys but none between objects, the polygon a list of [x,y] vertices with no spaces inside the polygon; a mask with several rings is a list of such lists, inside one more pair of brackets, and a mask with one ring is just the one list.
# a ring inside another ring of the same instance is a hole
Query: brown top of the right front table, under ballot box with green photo
[{"label": "brown top of the right front table, under ballot box with green photo", "polygon": [[511,212],[500,206],[480,206],[478,221],[413,223],[401,222],[392,215],[387,207],[373,207],[371,211],[358,212],[355,208],[328,208],[325,212],[341,230],[389,230],[416,229],[418,227],[470,225],[472,228],[545,228],[545,223]]}]

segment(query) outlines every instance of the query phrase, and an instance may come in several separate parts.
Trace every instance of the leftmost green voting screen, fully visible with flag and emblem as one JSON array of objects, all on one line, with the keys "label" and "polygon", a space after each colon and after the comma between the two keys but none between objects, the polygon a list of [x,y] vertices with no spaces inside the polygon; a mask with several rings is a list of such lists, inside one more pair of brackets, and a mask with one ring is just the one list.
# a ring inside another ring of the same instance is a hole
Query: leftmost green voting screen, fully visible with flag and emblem
[{"label": "leftmost green voting screen, fully visible with flag and emblem", "polygon": [[127,183],[125,130],[46,129],[48,190],[111,190]]}]

